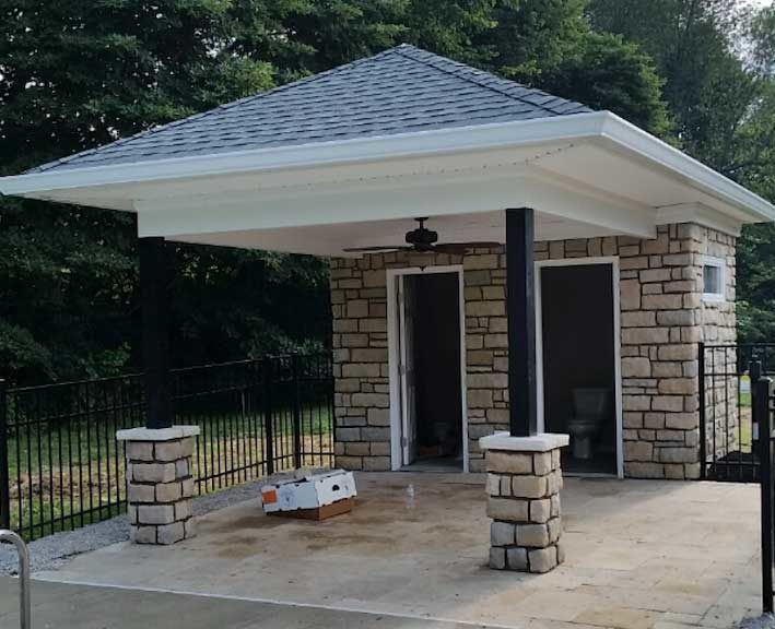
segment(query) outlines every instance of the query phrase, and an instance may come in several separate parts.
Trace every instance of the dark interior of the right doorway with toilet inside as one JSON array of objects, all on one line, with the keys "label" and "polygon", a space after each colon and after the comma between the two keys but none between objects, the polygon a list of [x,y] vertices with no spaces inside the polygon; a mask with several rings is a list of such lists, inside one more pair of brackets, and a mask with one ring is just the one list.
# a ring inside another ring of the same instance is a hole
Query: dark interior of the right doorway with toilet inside
[{"label": "dark interior of the right doorway with toilet inside", "polygon": [[543,266],[543,417],[569,472],[617,473],[613,266]]}]

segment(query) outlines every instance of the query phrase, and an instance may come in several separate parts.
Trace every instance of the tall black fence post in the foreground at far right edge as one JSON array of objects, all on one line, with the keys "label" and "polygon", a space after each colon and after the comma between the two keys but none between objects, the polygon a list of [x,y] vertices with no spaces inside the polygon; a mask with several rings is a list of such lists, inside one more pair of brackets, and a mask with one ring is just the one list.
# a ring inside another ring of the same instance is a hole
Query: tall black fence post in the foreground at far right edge
[{"label": "tall black fence post in the foreground at far right edge", "polygon": [[762,609],[773,612],[773,470],[772,470],[772,422],[770,403],[772,380],[762,377],[762,365],[752,361],[751,406],[754,430],[759,439],[759,464],[761,483],[762,520]]}]

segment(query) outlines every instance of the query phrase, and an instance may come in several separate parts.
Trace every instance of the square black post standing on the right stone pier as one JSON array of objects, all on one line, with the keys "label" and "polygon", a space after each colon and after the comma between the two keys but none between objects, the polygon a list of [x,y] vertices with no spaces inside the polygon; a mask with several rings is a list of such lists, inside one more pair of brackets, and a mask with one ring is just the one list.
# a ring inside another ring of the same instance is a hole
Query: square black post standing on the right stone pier
[{"label": "square black post standing on the right stone pier", "polygon": [[508,407],[513,437],[538,432],[533,211],[506,210]]}]

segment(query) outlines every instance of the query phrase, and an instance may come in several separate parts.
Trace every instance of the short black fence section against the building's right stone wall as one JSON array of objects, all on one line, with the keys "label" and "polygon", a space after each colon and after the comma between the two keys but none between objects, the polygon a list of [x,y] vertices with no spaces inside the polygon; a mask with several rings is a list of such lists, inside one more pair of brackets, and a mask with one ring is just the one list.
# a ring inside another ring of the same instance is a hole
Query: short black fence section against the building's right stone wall
[{"label": "short black fence section against the building's right stone wall", "polygon": [[755,483],[760,458],[753,447],[750,365],[775,370],[775,343],[700,344],[701,477]]}]

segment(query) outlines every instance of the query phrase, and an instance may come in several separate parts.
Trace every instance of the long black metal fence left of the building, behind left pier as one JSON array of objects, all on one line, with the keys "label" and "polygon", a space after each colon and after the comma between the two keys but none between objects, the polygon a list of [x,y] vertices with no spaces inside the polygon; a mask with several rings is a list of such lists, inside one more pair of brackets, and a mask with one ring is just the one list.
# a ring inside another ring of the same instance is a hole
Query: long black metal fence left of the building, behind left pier
[{"label": "long black metal fence left of the building, behind left pier", "polygon": [[[196,424],[200,494],[277,471],[330,466],[329,354],[176,369],[176,424]],[[142,426],[142,375],[44,387],[0,384],[0,527],[27,539],[119,513],[126,505],[121,428]]]}]

